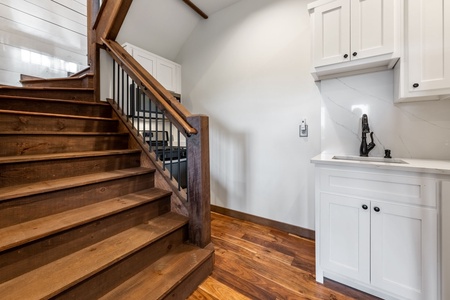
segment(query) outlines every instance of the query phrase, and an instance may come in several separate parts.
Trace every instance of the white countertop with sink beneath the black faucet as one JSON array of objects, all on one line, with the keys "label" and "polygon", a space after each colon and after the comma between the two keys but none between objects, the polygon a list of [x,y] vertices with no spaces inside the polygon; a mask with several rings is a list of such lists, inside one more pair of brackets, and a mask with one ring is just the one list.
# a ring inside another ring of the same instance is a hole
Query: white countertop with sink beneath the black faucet
[{"label": "white countertop with sink beneath the black faucet", "polygon": [[349,155],[349,157],[352,159],[346,160],[333,159],[333,157],[335,156],[345,157],[346,155],[319,154],[313,157],[311,159],[311,162],[314,164],[327,164],[347,167],[367,167],[385,170],[450,175],[450,161],[447,160],[394,158],[394,160],[402,160],[404,163],[393,163],[385,162],[388,159],[383,159],[382,157],[374,158],[375,160],[379,161],[370,161],[371,157],[361,158],[361,160],[358,160],[359,157]]}]

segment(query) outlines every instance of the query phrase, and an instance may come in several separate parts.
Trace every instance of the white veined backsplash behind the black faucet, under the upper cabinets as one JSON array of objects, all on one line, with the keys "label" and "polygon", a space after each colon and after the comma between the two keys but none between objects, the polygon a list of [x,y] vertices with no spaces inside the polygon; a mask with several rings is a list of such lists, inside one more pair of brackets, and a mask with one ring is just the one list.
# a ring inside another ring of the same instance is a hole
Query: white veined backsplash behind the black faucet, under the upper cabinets
[{"label": "white veined backsplash behind the black faucet, under the upper cabinets", "polygon": [[393,71],[323,80],[322,151],[359,155],[366,113],[376,147],[369,156],[450,159],[450,101],[394,104]]}]

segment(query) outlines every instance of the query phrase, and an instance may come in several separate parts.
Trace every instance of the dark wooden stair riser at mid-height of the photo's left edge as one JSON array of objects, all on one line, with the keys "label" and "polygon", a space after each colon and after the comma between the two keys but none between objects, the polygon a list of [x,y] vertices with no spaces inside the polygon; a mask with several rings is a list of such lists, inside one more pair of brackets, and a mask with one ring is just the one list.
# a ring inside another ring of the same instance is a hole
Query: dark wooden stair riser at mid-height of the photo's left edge
[{"label": "dark wooden stair riser at mid-height of the photo's left edge", "polygon": [[0,156],[128,149],[127,135],[0,135]]}]

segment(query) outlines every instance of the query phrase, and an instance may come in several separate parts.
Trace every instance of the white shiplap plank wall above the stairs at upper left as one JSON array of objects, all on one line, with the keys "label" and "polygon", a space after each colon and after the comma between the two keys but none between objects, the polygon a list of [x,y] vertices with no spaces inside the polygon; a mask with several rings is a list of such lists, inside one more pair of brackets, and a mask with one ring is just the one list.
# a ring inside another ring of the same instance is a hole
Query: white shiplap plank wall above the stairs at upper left
[{"label": "white shiplap plank wall above the stairs at upper left", "polygon": [[0,0],[0,84],[87,65],[86,0]]}]

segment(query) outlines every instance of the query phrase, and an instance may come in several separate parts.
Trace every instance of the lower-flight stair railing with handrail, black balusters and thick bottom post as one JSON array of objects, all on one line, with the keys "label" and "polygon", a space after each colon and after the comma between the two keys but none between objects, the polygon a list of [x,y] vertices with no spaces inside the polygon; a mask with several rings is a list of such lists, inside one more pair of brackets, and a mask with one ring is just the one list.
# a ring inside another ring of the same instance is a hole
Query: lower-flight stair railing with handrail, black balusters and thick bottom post
[{"label": "lower-flight stair railing with handrail, black balusters and thick bottom post", "polygon": [[[205,247],[211,237],[208,117],[190,114],[121,45],[107,40],[103,44],[114,60],[115,104],[149,144],[155,163],[172,170],[168,182],[175,179],[178,190],[186,187],[190,240]],[[159,152],[161,144],[169,157]],[[172,154],[185,157],[174,159]],[[184,166],[185,178],[180,172]]]}]

